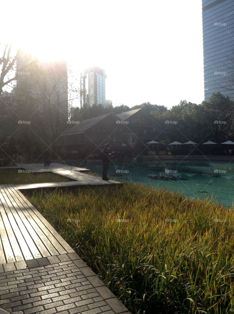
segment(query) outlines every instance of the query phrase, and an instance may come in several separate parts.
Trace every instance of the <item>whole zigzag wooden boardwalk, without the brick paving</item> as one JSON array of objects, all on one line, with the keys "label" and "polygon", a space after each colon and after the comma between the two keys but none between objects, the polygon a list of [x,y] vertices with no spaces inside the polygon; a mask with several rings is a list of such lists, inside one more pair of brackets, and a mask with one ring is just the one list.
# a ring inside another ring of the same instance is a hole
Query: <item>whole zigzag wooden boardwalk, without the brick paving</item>
[{"label": "whole zigzag wooden boardwalk, without the brick paving", "polygon": [[49,171],[75,181],[0,185],[0,264],[74,252],[19,190],[121,184],[82,172],[84,168],[22,164],[31,172]]}]

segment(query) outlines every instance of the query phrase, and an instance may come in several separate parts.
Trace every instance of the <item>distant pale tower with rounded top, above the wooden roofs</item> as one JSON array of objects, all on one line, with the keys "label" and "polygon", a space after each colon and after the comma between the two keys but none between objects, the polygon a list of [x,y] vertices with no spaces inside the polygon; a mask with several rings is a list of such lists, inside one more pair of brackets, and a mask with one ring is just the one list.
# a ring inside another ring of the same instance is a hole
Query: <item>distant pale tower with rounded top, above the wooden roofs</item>
[{"label": "distant pale tower with rounded top, above the wooden roofs", "polygon": [[81,90],[83,91],[83,106],[102,104],[105,106],[105,70],[99,67],[90,67],[84,70],[81,79]]}]

